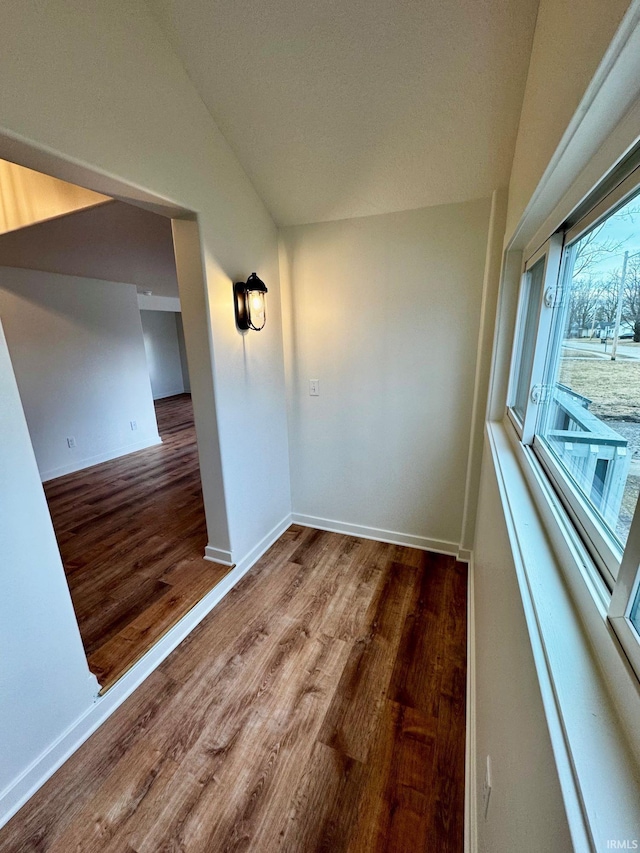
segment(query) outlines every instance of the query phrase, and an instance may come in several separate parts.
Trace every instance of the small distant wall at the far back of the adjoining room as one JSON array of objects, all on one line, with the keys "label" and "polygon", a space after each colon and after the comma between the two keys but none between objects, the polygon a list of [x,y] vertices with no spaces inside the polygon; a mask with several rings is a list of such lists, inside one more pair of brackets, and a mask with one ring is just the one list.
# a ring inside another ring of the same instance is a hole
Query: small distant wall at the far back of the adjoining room
[{"label": "small distant wall at the far back of the adjoining room", "polygon": [[185,390],[178,341],[179,315],[169,311],[141,311],[144,349],[154,400]]}]

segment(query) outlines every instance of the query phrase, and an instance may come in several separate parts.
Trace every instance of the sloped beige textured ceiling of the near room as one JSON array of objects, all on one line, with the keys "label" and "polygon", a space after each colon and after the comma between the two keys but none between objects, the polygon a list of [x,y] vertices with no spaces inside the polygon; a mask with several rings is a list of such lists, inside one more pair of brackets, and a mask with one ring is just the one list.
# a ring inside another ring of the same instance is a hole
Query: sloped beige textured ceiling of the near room
[{"label": "sloped beige textured ceiling of the near room", "polygon": [[147,2],[279,225],[508,183],[537,0]]}]

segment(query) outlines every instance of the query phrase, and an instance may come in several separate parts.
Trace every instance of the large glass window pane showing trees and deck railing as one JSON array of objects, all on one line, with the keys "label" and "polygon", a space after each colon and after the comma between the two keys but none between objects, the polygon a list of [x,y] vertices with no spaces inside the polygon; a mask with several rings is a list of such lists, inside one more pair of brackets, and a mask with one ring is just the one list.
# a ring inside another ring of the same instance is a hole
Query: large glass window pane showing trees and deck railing
[{"label": "large glass window pane showing trees and deck railing", "polygon": [[538,434],[624,545],[640,491],[640,205],[565,250]]}]

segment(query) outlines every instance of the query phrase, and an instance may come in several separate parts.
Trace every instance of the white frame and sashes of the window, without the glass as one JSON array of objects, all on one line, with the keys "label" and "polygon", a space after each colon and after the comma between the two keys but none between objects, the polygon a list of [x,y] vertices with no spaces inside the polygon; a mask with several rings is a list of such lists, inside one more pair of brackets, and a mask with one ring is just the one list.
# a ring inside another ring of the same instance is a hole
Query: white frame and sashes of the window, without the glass
[{"label": "white frame and sashes of the window, without the glass", "polygon": [[[563,261],[567,252],[589,230],[610,216],[640,191],[640,167],[608,193],[578,222],[553,234],[542,246],[525,250],[526,258],[520,279],[519,307],[511,358],[506,414],[520,443],[531,448],[541,469],[548,478],[559,503],[564,508],[572,526],[582,539],[594,570],[604,580],[611,596],[607,601],[607,619],[624,649],[638,679],[640,679],[640,632],[630,620],[630,613],[640,589],[640,498],[629,530],[624,550],[610,534],[588,500],[580,493],[567,473],[559,465],[544,441],[536,435],[540,403],[545,398],[545,366],[553,333],[554,310],[559,303],[564,285]],[[516,383],[519,374],[520,347],[523,343],[524,324],[527,319],[527,275],[535,264],[545,258],[540,303],[537,307],[535,347],[528,382],[528,396],[524,418],[514,411]],[[535,389],[535,390],[534,390]]]}]

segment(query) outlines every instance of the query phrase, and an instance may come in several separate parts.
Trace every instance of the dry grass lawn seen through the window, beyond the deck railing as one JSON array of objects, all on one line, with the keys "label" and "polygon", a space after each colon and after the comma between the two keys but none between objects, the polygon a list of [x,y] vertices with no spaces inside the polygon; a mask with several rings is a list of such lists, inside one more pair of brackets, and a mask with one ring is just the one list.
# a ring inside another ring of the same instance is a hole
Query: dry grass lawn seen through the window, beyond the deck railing
[{"label": "dry grass lawn seen through the window, beyond the deck railing", "polygon": [[592,400],[594,415],[640,423],[640,361],[563,358],[560,382]]}]

